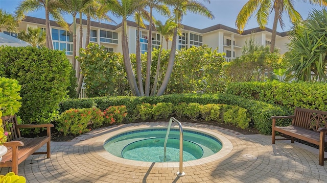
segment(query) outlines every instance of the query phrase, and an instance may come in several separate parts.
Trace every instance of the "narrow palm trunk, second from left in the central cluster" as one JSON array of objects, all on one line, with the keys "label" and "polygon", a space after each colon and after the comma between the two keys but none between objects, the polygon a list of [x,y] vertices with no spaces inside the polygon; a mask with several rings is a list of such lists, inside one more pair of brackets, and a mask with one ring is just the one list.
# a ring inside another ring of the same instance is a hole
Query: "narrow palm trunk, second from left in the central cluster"
[{"label": "narrow palm trunk, second from left in the central cluster", "polygon": [[141,15],[138,16],[137,21],[137,31],[136,31],[136,73],[137,73],[137,81],[138,81],[138,88],[139,92],[141,93],[141,96],[144,96],[143,91],[143,82],[142,82],[142,66],[141,66],[141,48],[139,43],[139,21]]}]

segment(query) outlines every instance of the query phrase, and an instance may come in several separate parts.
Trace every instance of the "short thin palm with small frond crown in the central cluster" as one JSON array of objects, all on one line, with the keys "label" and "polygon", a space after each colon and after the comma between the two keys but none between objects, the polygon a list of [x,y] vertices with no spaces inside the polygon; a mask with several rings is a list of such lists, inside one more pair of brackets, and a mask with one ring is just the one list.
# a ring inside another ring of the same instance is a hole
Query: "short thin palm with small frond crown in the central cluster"
[{"label": "short thin palm with small frond crown in the central cluster", "polygon": [[[161,61],[160,59],[161,59],[161,53],[162,53],[162,44],[164,43],[162,40],[164,40],[164,37],[171,35],[173,33],[172,31],[176,27],[174,19],[172,19],[172,18],[169,18],[168,20],[166,20],[165,24],[162,24],[162,22],[160,20],[157,20],[155,22],[155,24],[156,24],[157,32],[161,34],[161,42],[160,42],[160,50],[159,50],[159,55],[158,55],[156,74],[154,77],[153,87],[152,87],[151,94],[150,94],[151,96],[153,96],[155,94],[156,89],[157,89],[158,75],[159,75],[159,71],[160,71],[160,61]],[[167,43],[167,46],[168,46],[168,43]]]}]

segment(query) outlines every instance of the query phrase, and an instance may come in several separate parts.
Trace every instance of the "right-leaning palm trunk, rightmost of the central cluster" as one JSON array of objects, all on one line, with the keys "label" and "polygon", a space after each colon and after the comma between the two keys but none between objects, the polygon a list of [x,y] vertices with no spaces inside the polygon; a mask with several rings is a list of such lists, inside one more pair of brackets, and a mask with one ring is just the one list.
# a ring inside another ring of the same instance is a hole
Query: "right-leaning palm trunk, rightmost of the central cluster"
[{"label": "right-leaning palm trunk, rightmost of the central cluster", "polygon": [[[176,15],[176,17],[178,17]],[[173,35],[173,40],[172,40],[172,47],[170,49],[170,55],[169,55],[169,60],[168,60],[168,66],[167,66],[167,71],[164,77],[164,80],[162,80],[162,84],[158,90],[157,96],[163,95],[169,79],[170,79],[170,75],[173,72],[173,67],[174,67],[174,61],[175,61],[175,54],[176,54],[176,41],[177,41],[177,28],[174,29],[174,35]]]}]

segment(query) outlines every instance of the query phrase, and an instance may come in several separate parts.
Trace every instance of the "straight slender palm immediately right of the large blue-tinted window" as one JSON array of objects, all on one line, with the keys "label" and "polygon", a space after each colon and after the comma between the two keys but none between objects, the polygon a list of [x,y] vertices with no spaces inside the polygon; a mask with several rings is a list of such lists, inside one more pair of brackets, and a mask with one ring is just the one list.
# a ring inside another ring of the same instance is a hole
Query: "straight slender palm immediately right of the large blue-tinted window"
[{"label": "straight slender palm immediately right of the large blue-tinted window", "polygon": [[[79,12],[82,12],[92,0],[59,0],[61,6],[60,9],[63,12],[69,13],[73,16],[73,70],[76,70],[76,16]],[[81,20],[80,20],[81,21]],[[76,71],[76,77],[79,75],[79,71]]]}]

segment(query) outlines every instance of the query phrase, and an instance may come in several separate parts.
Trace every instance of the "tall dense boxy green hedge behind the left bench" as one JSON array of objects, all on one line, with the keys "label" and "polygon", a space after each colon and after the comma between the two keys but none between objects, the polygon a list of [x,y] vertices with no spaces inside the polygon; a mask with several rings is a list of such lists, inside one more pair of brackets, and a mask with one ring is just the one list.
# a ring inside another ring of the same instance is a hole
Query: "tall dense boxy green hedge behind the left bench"
[{"label": "tall dense boxy green hedge behind the left bench", "polygon": [[0,48],[0,71],[21,85],[22,122],[42,124],[56,116],[67,96],[72,65],[60,50],[6,46]]}]

